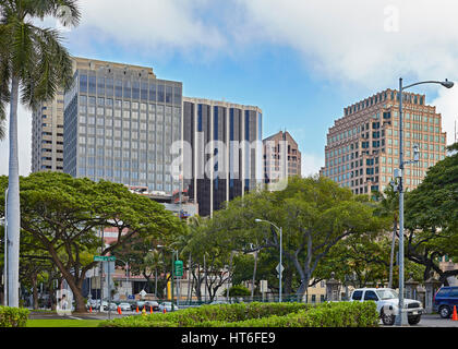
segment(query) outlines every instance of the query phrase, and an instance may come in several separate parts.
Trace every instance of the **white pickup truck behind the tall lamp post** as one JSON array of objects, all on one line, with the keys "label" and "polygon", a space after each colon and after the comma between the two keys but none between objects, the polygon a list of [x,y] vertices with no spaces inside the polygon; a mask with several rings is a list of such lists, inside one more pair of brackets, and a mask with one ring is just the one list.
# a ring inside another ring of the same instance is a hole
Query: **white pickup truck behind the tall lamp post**
[{"label": "white pickup truck behind the tall lamp post", "polygon": [[[398,314],[399,294],[390,288],[359,288],[351,293],[350,301],[374,301],[384,325],[394,325]],[[409,325],[417,325],[423,314],[423,304],[413,299],[403,299]]]}]

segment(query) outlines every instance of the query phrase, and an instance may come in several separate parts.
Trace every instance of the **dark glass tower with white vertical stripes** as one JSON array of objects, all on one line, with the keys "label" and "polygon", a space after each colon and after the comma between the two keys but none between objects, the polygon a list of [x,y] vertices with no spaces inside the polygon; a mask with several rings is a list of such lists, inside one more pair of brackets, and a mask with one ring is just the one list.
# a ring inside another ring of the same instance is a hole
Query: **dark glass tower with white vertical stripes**
[{"label": "dark glass tower with white vertical stripes", "polygon": [[201,216],[261,188],[262,132],[258,107],[183,97],[183,183]]}]

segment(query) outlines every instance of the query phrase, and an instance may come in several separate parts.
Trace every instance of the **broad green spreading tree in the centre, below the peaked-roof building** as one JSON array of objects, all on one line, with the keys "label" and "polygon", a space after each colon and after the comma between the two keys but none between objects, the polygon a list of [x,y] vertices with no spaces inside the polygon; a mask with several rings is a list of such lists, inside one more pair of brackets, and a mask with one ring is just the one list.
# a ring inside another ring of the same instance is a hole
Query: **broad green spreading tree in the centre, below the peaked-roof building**
[{"label": "broad green spreading tree in the centre, below the peaked-roof building", "polygon": [[300,280],[297,297],[302,298],[315,270],[339,241],[350,236],[376,232],[386,221],[374,208],[357,200],[348,189],[325,178],[292,178],[278,192],[251,193],[230,202],[214,215],[215,230],[231,237],[231,244],[263,241],[263,248],[279,250],[279,237],[265,219],[282,227],[282,251]]}]

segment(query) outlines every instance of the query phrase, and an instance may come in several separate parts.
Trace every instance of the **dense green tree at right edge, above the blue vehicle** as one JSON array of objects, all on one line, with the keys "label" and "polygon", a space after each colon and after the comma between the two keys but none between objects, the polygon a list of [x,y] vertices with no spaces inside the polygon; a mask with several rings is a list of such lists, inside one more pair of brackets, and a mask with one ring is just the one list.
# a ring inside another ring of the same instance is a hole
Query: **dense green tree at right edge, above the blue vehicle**
[{"label": "dense green tree at right edge, above the blue vehicle", "polygon": [[445,285],[458,275],[458,268],[442,270],[438,262],[445,255],[458,261],[458,143],[449,152],[406,196],[406,255],[424,266],[424,279],[433,270]]}]

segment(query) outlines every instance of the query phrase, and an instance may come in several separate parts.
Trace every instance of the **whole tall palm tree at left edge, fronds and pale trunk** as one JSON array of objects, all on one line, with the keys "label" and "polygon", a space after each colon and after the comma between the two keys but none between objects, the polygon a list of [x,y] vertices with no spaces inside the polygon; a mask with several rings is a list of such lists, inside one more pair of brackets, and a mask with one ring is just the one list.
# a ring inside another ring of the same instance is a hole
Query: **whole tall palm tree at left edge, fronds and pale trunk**
[{"label": "whole tall palm tree at left edge, fronds and pale trunk", "polygon": [[[17,105],[35,108],[51,100],[58,87],[70,87],[72,61],[60,33],[41,28],[36,20],[53,16],[76,25],[75,0],[0,0],[0,122],[10,104],[10,159],[8,194],[9,305],[19,306],[20,183],[17,158]],[[0,132],[1,135],[2,132]],[[3,132],[4,133],[4,132]]]}]

